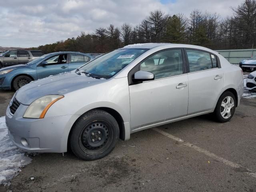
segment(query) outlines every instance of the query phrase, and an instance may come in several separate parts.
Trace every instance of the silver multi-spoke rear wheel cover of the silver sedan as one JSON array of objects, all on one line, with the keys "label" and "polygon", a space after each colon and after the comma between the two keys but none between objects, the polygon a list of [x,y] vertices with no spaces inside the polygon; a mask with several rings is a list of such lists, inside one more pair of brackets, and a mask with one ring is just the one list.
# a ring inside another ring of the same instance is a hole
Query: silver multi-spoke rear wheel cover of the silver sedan
[{"label": "silver multi-spoke rear wheel cover of the silver sedan", "polygon": [[231,96],[225,97],[220,106],[220,114],[222,118],[228,119],[232,116],[232,110],[234,108],[234,99]]}]

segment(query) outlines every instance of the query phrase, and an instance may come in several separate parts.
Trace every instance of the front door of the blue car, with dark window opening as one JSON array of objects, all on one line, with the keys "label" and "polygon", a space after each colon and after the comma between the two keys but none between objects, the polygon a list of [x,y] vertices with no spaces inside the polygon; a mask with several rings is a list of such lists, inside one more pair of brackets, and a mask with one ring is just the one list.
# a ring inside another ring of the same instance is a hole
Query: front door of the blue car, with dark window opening
[{"label": "front door of the blue car, with dark window opening", "polygon": [[45,62],[47,65],[39,64],[37,66],[38,79],[68,71],[67,54],[54,55],[46,59]]}]

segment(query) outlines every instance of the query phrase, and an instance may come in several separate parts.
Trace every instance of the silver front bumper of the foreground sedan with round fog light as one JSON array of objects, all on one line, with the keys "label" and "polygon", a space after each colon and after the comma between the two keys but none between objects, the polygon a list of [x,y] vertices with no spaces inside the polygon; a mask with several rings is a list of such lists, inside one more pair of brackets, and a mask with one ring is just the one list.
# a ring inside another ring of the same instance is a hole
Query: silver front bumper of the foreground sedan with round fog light
[{"label": "silver front bumper of the foreground sedan with round fog light", "polygon": [[78,115],[43,119],[23,118],[28,106],[20,104],[14,115],[6,110],[6,126],[12,142],[26,152],[66,152],[69,132]]}]

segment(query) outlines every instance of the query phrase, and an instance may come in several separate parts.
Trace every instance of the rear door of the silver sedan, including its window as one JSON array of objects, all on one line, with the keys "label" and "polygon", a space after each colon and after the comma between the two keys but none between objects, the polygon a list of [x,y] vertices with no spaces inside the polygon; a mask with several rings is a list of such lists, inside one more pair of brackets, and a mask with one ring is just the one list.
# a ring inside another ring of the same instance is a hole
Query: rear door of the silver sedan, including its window
[{"label": "rear door of the silver sedan, including its window", "polygon": [[189,100],[188,115],[215,108],[224,86],[224,74],[218,67],[217,56],[195,49],[186,49],[188,61]]}]

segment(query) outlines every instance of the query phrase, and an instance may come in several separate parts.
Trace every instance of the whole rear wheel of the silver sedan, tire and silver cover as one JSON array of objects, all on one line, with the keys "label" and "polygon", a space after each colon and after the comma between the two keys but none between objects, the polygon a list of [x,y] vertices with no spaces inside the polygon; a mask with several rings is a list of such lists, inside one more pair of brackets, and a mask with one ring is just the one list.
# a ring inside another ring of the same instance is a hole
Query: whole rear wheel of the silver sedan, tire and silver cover
[{"label": "whole rear wheel of the silver sedan, tire and silver cover", "polygon": [[236,110],[236,98],[232,92],[224,92],[215,107],[214,115],[218,122],[228,122]]}]

